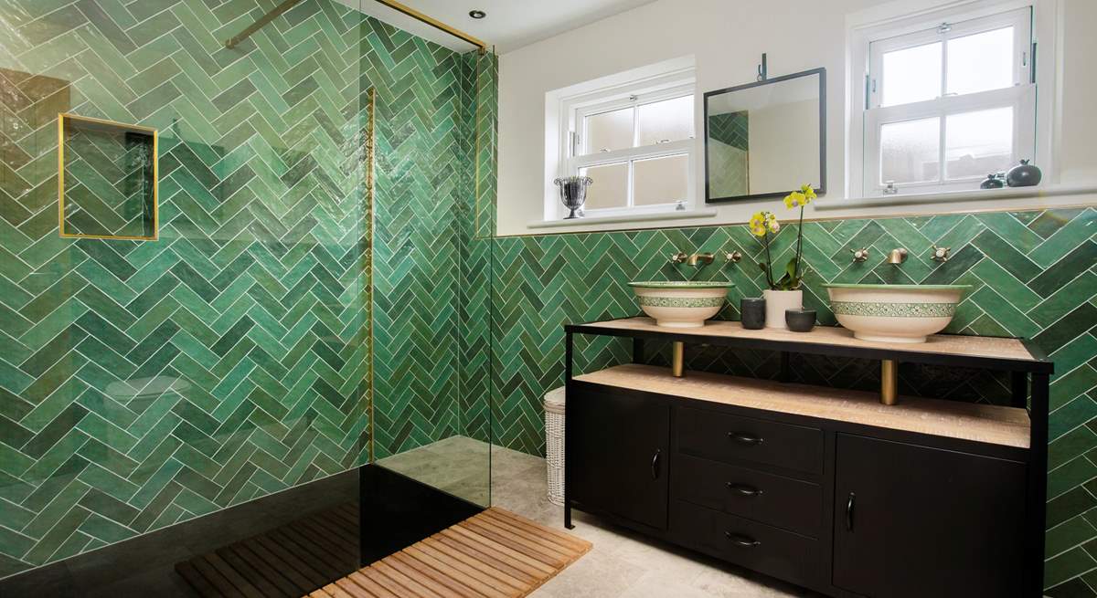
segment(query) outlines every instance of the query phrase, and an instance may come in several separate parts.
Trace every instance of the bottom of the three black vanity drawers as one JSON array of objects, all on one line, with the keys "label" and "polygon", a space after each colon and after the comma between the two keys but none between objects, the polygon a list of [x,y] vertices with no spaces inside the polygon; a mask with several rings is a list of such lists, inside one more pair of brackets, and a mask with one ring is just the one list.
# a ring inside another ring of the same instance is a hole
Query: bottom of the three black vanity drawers
[{"label": "bottom of the three black vanity drawers", "polygon": [[822,548],[806,536],[675,501],[670,529],[687,545],[725,561],[793,583],[822,575]]}]

